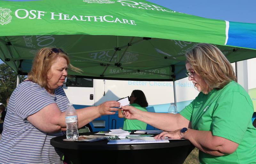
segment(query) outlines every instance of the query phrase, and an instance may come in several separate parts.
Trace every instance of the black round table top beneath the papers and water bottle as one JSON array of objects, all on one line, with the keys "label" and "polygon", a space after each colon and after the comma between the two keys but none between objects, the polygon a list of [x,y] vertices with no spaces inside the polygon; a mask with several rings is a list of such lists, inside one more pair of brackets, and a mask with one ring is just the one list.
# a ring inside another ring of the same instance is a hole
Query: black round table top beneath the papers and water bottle
[{"label": "black round table top beneath the papers and water bottle", "polygon": [[[96,132],[80,133],[79,135],[93,135]],[[159,149],[192,145],[189,140],[170,140],[169,143],[147,143],[147,144],[115,144],[108,145],[107,139],[95,142],[63,141],[66,135],[51,139],[51,145],[57,148],[73,150],[141,150]]]}]

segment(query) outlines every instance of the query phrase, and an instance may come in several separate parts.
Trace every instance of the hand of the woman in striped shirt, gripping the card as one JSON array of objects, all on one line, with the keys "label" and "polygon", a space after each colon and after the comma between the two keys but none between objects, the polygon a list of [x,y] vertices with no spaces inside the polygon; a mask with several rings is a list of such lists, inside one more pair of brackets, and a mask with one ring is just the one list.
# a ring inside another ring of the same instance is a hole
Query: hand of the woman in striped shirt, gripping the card
[{"label": "hand of the woman in striped shirt, gripping the card", "polygon": [[112,115],[115,114],[118,108],[120,107],[120,103],[117,101],[106,101],[97,106],[98,112],[100,115]]}]

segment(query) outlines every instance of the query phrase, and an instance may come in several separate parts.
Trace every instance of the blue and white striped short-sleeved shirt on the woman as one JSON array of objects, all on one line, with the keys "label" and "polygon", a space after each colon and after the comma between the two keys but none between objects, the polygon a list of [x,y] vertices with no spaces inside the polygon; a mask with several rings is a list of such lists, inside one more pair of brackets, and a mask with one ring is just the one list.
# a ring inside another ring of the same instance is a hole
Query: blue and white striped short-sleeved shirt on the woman
[{"label": "blue and white striped short-sleeved shirt on the woman", "polygon": [[26,81],[13,91],[0,141],[0,163],[63,163],[61,152],[50,145],[50,139],[63,132],[46,133],[27,120],[51,103],[66,111],[69,101],[61,87],[51,95],[37,83]]}]

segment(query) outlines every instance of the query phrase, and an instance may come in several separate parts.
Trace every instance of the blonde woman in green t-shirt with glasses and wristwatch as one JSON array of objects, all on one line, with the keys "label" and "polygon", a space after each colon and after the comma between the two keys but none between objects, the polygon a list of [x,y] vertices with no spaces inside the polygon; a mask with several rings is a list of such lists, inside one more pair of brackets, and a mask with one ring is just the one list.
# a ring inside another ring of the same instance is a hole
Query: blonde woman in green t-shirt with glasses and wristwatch
[{"label": "blonde woman in green t-shirt with glasses and wristwatch", "polygon": [[188,139],[199,149],[200,163],[256,163],[252,100],[236,83],[230,62],[216,46],[203,43],[186,58],[188,80],[200,92],[195,100],[179,114],[124,106],[124,117],[165,131],[155,138]]}]

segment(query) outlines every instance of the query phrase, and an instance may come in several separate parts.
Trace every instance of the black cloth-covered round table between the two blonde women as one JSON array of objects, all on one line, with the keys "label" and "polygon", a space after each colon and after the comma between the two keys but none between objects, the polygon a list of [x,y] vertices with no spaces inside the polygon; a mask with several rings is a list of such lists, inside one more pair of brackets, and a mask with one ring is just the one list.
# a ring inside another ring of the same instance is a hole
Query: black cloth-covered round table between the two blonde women
[{"label": "black cloth-covered round table between the two blonde women", "polygon": [[[92,135],[95,132],[79,135]],[[73,164],[86,163],[175,163],[182,164],[194,146],[189,140],[170,140],[169,143],[108,145],[106,139],[96,142],[63,141],[66,136],[51,139],[65,159]]]}]

